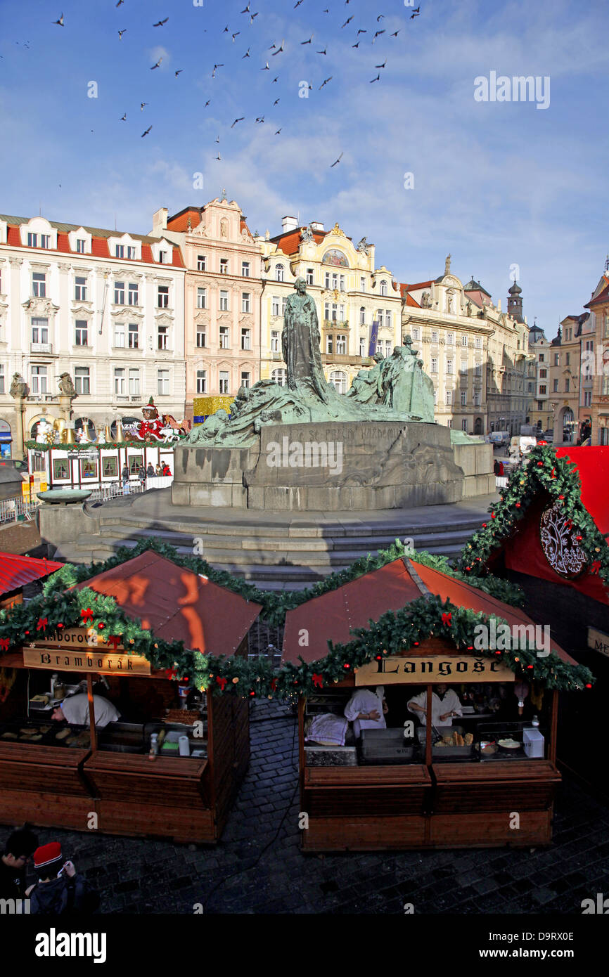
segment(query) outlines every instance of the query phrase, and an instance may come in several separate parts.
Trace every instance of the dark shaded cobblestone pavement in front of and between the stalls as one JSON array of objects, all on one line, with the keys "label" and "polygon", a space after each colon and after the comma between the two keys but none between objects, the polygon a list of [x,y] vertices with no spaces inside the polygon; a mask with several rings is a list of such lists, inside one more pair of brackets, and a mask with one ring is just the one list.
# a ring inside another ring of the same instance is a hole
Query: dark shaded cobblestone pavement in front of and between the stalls
[{"label": "dark shaded cobblestone pavement in front of and between the stalls", "polygon": [[[551,848],[302,855],[296,721],[254,703],[251,760],[216,848],[40,828],[103,913],[578,913],[609,891],[609,809],[565,777]],[[0,828],[0,842],[9,833]]]}]

